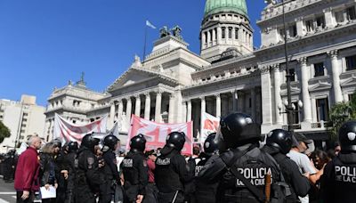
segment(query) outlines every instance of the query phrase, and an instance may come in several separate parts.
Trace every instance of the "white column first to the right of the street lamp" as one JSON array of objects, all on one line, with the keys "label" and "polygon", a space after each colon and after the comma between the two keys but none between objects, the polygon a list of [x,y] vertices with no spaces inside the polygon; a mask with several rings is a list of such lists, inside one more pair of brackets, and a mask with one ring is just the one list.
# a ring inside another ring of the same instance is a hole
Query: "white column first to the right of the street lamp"
[{"label": "white column first to the right of the street lamp", "polygon": [[312,122],[312,103],[311,95],[309,94],[309,84],[310,79],[309,69],[306,66],[306,58],[303,57],[298,60],[302,70],[302,95],[303,95],[303,121]]}]

